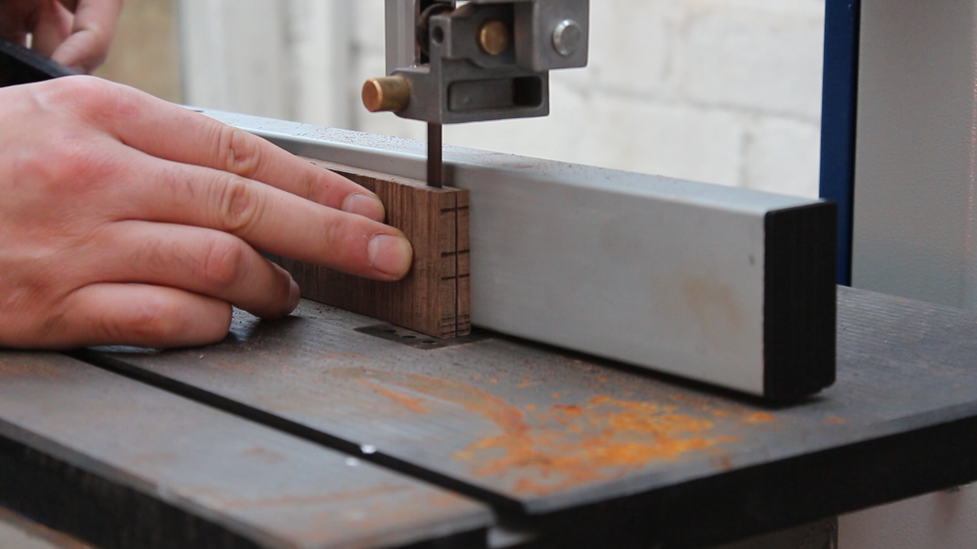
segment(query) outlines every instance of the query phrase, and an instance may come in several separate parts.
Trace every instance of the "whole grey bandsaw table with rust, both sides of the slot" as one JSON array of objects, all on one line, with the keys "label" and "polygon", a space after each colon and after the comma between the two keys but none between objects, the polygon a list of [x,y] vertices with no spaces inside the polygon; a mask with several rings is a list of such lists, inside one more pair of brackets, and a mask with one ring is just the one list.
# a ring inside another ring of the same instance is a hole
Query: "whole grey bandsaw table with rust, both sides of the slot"
[{"label": "whole grey bandsaw table with rust, both sides of the slot", "polygon": [[842,290],[838,383],[778,407],[375,324],[304,302],[206,349],[5,352],[2,502],[104,547],[701,547],[977,479],[956,310]]}]

